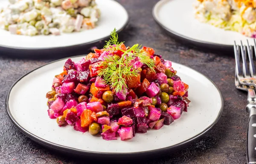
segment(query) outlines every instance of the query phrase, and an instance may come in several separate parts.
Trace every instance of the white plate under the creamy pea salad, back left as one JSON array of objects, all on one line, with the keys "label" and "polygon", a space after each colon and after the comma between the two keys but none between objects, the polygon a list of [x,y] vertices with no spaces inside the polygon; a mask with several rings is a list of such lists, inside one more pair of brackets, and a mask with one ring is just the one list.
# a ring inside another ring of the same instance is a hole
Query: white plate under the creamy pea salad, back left
[{"label": "white plate under the creamy pea salad, back left", "polygon": [[[0,47],[9,49],[56,49],[56,48],[76,48],[89,43],[95,43],[109,37],[110,32],[116,28],[121,31],[128,23],[128,13],[114,0],[96,0],[101,11],[100,20],[95,29],[70,34],[61,33],[54,35],[11,35],[10,32],[0,29]],[[0,7],[7,6],[8,0],[0,0]]]}]

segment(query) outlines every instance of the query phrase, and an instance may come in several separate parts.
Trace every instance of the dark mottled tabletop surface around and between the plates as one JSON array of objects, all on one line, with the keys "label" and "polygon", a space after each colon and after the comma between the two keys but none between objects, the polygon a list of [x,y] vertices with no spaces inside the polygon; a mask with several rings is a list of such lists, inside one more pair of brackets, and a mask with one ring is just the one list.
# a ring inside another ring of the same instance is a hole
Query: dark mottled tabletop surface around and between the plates
[{"label": "dark mottled tabletop surface around and between the plates", "polygon": [[[235,60],[232,53],[199,50],[166,35],[151,14],[157,1],[118,0],[130,14],[130,23],[119,34],[120,40],[125,40],[126,45],[140,43],[153,47],[165,59],[189,66],[209,77],[223,95],[224,112],[218,123],[189,147],[166,154],[164,158],[141,161],[140,164],[245,164],[246,93],[233,85]],[[84,50],[84,54],[88,52]],[[26,72],[55,59],[17,59],[6,55],[0,56],[0,164],[87,163],[36,144],[23,135],[6,114],[5,98],[12,83]]]}]

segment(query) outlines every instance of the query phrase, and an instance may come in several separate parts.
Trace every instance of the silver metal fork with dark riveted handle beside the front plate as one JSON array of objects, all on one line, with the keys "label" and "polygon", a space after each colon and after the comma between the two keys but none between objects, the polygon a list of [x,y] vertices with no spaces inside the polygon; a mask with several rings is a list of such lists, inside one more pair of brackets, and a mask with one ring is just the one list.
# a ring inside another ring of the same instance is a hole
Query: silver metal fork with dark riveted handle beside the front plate
[{"label": "silver metal fork with dark riveted handle beside the front plate", "polygon": [[[256,164],[256,70],[253,64],[253,47],[256,52],[256,42],[247,46],[241,42],[241,46],[234,44],[236,58],[235,85],[237,89],[248,92],[246,111],[250,113],[247,125],[247,145],[246,155],[248,164]],[[241,53],[240,53],[241,52]],[[242,58],[242,68],[240,67],[240,55]],[[247,68],[247,58],[249,58],[249,69]]]}]

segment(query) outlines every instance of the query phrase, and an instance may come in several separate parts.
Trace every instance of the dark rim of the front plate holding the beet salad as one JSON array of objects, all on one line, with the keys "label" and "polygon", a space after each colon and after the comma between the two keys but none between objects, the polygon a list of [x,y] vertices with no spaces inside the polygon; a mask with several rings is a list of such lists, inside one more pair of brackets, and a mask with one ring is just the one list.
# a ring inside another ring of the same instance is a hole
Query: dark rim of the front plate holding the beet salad
[{"label": "dark rim of the front plate holding the beet salad", "polygon": [[27,137],[29,137],[33,141],[37,142],[38,144],[41,144],[41,145],[43,145],[45,147],[48,147],[48,148],[54,149],[54,150],[58,150],[58,151],[61,151],[61,152],[69,152],[69,153],[71,153],[73,155],[88,155],[88,154],[90,154],[90,157],[98,156],[98,155],[101,155],[101,157],[102,157],[102,155],[104,155],[107,158],[115,158],[116,159],[116,158],[118,158],[118,157],[116,157],[116,155],[119,155],[119,156],[122,156],[122,157],[126,157],[126,158],[131,158],[130,155],[134,155],[134,156],[137,156],[137,157],[138,156],[144,156],[145,157],[147,155],[152,155],[152,154],[161,155],[163,153],[166,153],[166,151],[179,150],[181,147],[186,147],[187,145],[191,144],[193,141],[198,140],[205,133],[207,133],[210,129],[212,129],[212,127],[215,124],[217,124],[217,122],[221,118],[221,115],[222,115],[222,112],[223,112],[223,107],[224,107],[224,100],[223,100],[223,97],[222,97],[222,94],[221,94],[220,90],[215,85],[215,83],[213,83],[213,81],[210,80],[207,76],[205,76],[202,73],[196,71],[195,69],[192,69],[192,68],[190,68],[188,66],[184,66],[183,64],[180,64],[180,65],[182,65],[182,66],[184,66],[186,68],[192,69],[193,71],[197,72],[198,74],[204,76],[205,78],[207,78],[215,86],[215,88],[218,90],[218,93],[219,93],[220,98],[221,98],[221,107],[220,107],[220,110],[218,112],[217,117],[215,118],[215,120],[213,121],[212,124],[210,124],[207,128],[205,128],[202,132],[198,133],[197,135],[194,135],[193,137],[191,137],[191,138],[189,138],[189,139],[187,139],[185,141],[182,141],[182,142],[180,142],[178,144],[175,144],[175,145],[172,145],[172,146],[169,146],[169,147],[159,148],[159,149],[155,149],[155,150],[141,151],[141,152],[95,152],[95,151],[81,150],[81,149],[76,149],[76,148],[72,148],[72,147],[62,146],[60,144],[55,144],[53,142],[47,141],[47,140],[45,140],[43,138],[40,138],[37,135],[34,135],[31,132],[29,132],[27,129],[23,128],[18,123],[18,121],[16,121],[15,118],[12,116],[11,111],[9,109],[9,96],[10,96],[10,93],[12,91],[12,88],[16,85],[16,83],[19,82],[26,75],[29,75],[30,73],[34,72],[37,69],[40,69],[43,66],[47,66],[49,64],[58,62],[60,60],[66,60],[68,58],[77,58],[77,57],[82,57],[82,56],[85,56],[85,55],[76,55],[76,56],[72,56],[72,57],[62,58],[62,59],[58,59],[58,60],[54,60],[52,62],[46,63],[46,64],[44,64],[42,66],[39,66],[38,68],[35,68],[35,69],[25,73],[24,75],[22,75],[10,87],[10,89],[9,89],[7,95],[6,95],[6,102],[5,102],[7,115],[9,117],[9,119],[12,121],[12,123],[15,125],[15,127],[17,127],[17,129],[20,130],[20,132],[22,132],[24,135],[26,135]]}]

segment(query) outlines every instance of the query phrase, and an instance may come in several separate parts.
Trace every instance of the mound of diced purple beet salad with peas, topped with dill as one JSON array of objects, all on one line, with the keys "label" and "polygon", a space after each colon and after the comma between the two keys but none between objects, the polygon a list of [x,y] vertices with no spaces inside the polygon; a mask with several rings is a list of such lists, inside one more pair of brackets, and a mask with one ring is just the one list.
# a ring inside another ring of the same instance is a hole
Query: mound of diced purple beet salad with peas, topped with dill
[{"label": "mound of diced purple beet salad with peas, topped with dill", "polygon": [[49,118],[60,127],[127,140],[187,112],[189,86],[154,49],[126,47],[114,30],[94,52],[77,63],[69,58],[46,94]]}]

